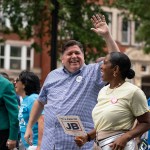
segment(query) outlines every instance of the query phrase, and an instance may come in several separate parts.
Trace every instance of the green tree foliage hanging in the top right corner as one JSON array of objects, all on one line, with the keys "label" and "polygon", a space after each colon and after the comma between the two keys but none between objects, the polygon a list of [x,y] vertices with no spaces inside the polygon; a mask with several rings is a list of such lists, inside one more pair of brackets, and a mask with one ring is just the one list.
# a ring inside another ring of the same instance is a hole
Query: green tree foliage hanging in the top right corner
[{"label": "green tree foliage hanging in the top right corner", "polygon": [[[109,0],[105,0],[108,4]],[[126,15],[132,14],[133,19],[139,20],[140,26],[136,33],[139,42],[144,42],[144,51],[150,53],[150,1],[149,0],[115,0],[110,6],[124,11]]]}]

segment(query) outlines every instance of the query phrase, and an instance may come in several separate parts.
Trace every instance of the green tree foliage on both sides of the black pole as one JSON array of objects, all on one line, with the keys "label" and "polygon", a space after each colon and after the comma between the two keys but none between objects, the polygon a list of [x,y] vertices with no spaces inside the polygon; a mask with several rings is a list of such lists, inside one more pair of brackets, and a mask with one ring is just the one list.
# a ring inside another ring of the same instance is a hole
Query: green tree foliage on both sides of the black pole
[{"label": "green tree foliage on both sides of the black pole", "polygon": [[[79,40],[84,46],[86,62],[95,61],[96,58],[104,55],[104,40],[90,31],[92,15],[94,13],[105,14],[100,6],[92,2],[87,3],[85,0],[58,0],[58,2],[58,49],[62,42],[75,39]],[[38,34],[35,35],[33,27],[40,26],[40,28],[43,28],[41,22],[50,19],[48,14],[54,9],[50,0],[4,0],[2,6],[3,13],[6,18],[9,18],[12,26],[11,30],[4,28],[3,32],[17,33],[22,39],[29,39],[33,36],[42,38],[45,33],[41,33],[39,30]],[[26,22],[26,26],[24,26],[23,21]],[[47,26],[50,26],[50,23]],[[47,33],[51,34],[50,30]],[[37,51],[40,49],[36,43],[32,46]]]}]

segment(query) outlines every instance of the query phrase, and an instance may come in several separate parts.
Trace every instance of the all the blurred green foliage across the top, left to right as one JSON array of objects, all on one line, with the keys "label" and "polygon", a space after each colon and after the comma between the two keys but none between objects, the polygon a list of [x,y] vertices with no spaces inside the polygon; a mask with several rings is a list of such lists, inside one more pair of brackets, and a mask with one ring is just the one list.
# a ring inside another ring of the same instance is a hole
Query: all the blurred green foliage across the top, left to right
[{"label": "all the blurred green foliage across the top, left to right", "polygon": [[[108,0],[104,1],[108,4]],[[90,18],[95,13],[104,14],[107,23],[109,22],[102,8],[94,2],[87,3],[85,0],[57,0],[57,2],[59,4],[57,53],[64,41],[75,39],[84,46],[86,63],[105,55],[104,40],[90,30],[92,27]],[[0,3],[4,18],[8,18],[11,23],[11,28],[3,28],[4,33],[17,33],[21,39],[42,38],[46,33],[52,33],[51,13],[55,9],[52,0],[4,0]],[[133,18],[140,21],[137,39],[139,42],[144,41],[144,50],[150,52],[150,1],[115,0],[115,3],[109,4],[109,7],[123,9],[126,15],[132,13]],[[36,32],[37,27],[38,32]],[[45,27],[49,29],[42,32]],[[45,44],[50,43],[47,41]],[[36,51],[42,50],[36,42],[32,46]]]}]

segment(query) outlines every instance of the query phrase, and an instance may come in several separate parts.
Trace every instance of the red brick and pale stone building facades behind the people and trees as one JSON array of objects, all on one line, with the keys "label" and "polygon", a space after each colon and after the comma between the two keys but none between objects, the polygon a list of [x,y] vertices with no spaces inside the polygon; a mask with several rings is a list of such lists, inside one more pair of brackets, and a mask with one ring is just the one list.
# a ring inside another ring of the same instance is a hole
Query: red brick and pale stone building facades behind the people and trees
[{"label": "red brick and pale stone building facades behind the people and trees", "polygon": [[[88,2],[90,1],[88,0]],[[143,51],[140,50],[142,43],[136,42],[135,39],[139,23],[124,17],[121,10],[103,6],[102,0],[94,1],[108,13],[109,28],[113,39],[117,42],[120,50],[131,58],[136,72],[136,77],[132,82],[139,87],[146,88],[146,91],[150,91],[150,55],[143,54]],[[1,16],[2,14],[0,14]],[[21,70],[30,69],[39,75],[41,83],[43,83],[51,66],[51,57],[48,55],[51,47],[46,47],[43,43],[50,37],[46,36],[39,41],[42,45],[42,53],[36,53],[34,49],[29,48],[35,39],[22,41],[15,34],[6,36],[0,33],[1,37],[5,37],[7,40],[0,44],[0,71],[16,78]],[[148,83],[145,83],[145,78]]]}]

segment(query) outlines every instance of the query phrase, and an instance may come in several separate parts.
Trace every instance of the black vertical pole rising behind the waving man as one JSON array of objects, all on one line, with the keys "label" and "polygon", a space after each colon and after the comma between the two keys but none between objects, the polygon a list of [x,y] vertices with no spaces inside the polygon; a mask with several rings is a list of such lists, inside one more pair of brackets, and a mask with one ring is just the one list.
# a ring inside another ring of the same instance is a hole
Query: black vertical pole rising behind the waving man
[{"label": "black vertical pole rising behind the waving man", "polygon": [[57,26],[58,26],[58,9],[57,0],[52,0],[54,10],[52,11],[52,32],[51,32],[51,70],[57,68]]}]

